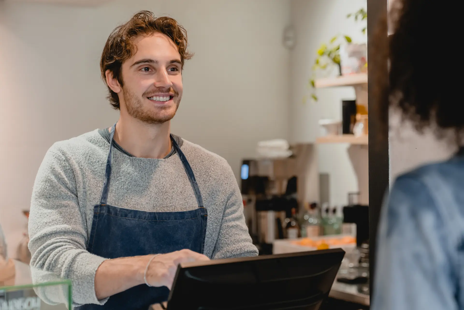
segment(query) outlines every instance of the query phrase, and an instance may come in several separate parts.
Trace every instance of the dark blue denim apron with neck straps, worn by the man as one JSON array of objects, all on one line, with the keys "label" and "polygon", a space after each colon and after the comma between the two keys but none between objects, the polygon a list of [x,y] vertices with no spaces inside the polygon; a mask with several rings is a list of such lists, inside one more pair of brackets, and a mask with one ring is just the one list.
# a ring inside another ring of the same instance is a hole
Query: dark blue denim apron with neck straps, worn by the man
[{"label": "dark blue denim apron with neck straps, worn by the man", "polygon": [[[146,212],[107,204],[111,177],[111,152],[116,124],[111,128],[110,152],[106,162],[100,204],[94,206],[93,223],[87,251],[106,258],[169,253],[182,249],[203,253],[207,211],[200,189],[184,153],[171,136],[175,151],[184,165],[193,187],[198,208],[183,212]],[[168,300],[166,286],[146,284],[113,295],[103,305],[85,304],[79,310],[147,310],[151,304]]]}]

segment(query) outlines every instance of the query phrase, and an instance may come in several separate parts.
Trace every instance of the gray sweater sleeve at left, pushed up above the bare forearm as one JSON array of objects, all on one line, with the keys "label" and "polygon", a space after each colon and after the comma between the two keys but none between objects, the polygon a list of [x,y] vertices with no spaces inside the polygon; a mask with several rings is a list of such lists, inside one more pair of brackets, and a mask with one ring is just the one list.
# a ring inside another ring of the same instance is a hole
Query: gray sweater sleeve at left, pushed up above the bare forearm
[{"label": "gray sweater sleeve at left, pushed up above the bare forearm", "polygon": [[[85,215],[79,208],[76,176],[71,159],[57,145],[46,153],[32,190],[29,250],[34,283],[69,279],[75,306],[99,301],[95,273],[105,258],[86,251]],[[63,294],[41,290],[47,303],[64,303]]]}]

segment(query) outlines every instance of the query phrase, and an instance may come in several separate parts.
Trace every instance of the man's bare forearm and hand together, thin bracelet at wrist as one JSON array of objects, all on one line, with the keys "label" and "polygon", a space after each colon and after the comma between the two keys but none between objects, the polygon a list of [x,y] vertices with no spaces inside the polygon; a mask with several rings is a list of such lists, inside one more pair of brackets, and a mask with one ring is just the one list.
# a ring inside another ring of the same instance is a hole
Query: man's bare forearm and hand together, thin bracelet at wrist
[{"label": "man's bare forearm and hand together, thin bracelet at wrist", "polygon": [[[147,264],[153,255],[121,257],[104,261],[95,274],[95,294],[98,300],[110,297],[131,287],[145,284],[143,279]],[[171,289],[177,265],[196,260],[209,260],[203,254],[180,250],[157,255],[147,270],[147,283]]]}]

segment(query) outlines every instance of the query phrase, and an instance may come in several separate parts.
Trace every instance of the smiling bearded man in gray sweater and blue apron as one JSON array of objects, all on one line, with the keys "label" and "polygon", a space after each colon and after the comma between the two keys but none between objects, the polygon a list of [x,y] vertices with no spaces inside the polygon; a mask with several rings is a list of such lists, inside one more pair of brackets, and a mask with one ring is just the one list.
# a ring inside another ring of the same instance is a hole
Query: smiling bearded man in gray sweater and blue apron
[{"label": "smiling bearded man in gray sweater and blue apron", "polygon": [[168,17],[142,11],[117,27],[100,65],[119,120],[55,143],[39,168],[33,277],[71,279],[78,309],[145,310],[167,300],[181,262],[258,254],[226,160],[170,132],[186,48]]}]

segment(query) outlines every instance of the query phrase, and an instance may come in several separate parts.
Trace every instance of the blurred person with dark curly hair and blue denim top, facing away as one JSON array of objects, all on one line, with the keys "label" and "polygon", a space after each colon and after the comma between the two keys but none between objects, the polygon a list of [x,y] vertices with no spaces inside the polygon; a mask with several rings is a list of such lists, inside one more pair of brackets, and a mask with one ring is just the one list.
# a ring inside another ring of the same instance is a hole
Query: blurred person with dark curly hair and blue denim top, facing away
[{"label": "blurred person with dark curly hair and blue denim top, facing away", "polygon": [[[380,217],[373,310],[464,309],[464,109],[453,74],[462,62],[445,64],[439,56],[444,36],[461,34],[453,4],[397,0],[389,15],[393,35],[387,41],[383,26],[375,38],[372,61],[385,68],[373,77],[381,109],[400,111],[419,132],[451,135],[460,148],[394,181]],[[382,121],[387,125],[387,115]]]}]

